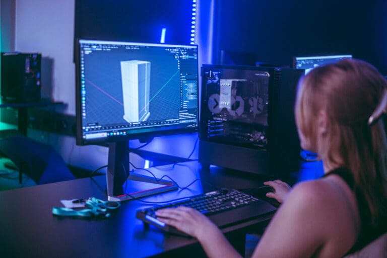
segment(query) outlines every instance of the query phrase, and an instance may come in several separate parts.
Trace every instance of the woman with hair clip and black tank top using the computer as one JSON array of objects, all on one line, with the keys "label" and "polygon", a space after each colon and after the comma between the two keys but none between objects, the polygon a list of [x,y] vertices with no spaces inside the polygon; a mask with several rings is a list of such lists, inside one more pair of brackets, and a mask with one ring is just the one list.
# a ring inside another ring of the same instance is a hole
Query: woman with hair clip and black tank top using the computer
[{"label": "woman with hair clip and black tank top using the computer", "polygon": [[[321,179],[265,184],[283,202],[253,257],[342,257],[387,232],[387,82],[370,64],[343,59],[301,78],[295,105],[301,147],[318,153]],[[384,97],[384,98],[383,98]],[[209,257],[240,256],[204,215],[186,207],[159,219],[196,237]]]}]

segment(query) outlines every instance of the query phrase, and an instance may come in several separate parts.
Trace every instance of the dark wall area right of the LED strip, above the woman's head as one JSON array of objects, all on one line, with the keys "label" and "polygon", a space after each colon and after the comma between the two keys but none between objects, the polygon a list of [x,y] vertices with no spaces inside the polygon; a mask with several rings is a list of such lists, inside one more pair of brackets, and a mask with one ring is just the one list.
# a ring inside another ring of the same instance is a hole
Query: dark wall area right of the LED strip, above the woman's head
[{"label": "dark wall area right of the LED strip, above the woman's head", "polygon": [[387,74],[387,1],[216,0],[221,50],[291,65],[293,56],[352,54]]}]

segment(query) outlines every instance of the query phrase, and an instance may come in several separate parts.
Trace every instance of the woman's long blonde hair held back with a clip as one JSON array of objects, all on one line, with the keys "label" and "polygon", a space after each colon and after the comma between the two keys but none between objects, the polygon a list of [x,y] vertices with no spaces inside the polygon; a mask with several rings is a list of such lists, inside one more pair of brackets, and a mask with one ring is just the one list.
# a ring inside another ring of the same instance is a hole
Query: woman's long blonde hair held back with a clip
[{"label": "woman's long blonde hair held back with a clip", "polygon": [[347,167],[369,208],[372,225],[387,214],[387,141],[382,120],[368,118],[387,81],[367,62],[343,59],[316,67],[299,82],[295,106],[299,131],[316,140],[315,116],[324,110],[330,121],[319,155],[336,167]]}]

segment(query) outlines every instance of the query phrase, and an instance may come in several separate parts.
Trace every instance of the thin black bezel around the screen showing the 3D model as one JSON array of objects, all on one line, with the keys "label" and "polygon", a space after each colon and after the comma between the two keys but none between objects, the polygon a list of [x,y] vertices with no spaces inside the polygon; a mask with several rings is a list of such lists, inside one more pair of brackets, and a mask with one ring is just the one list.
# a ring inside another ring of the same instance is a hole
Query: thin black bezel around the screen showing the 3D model
[{"label": "thin black bezel around the screen showing the 3D model", "polygon": [[114,43],[114,44],[136,44],[136,45],[147,45],[147,46],[162,46],[162,47],[193,47],[198,51],[197,44],[182,45],[182,44],[159,44],[159,43],[146,43],[146,42],[132,42],[132,41],[112,41],[112,40],[92,40],[92,39],[76,39],[76,51],[75,51],[75,70],[76,70],[76,144],[77,145],[107,145],[111,142],[121,142],[128,141],[133,139],[139,139],[141,142],[150,141],[154,137],[168,136],[168,135],[179,135],[179,134],[188,134],[188,133],[197,133],[199,131],[199,61],[197,64],[197,126],[196,127],[184,127],[184,128],[170,128],[170,127],[159,127],[156,130],[150,128],[144,128],[136,131],[131,131],[126,135],[119,136],[108,136],[105,138],[93,138],[93,139],[84,139],[83,138],[83,129],[82,129],[82,100],[81,100],[81,56],[80,56],[80,45],[81,42],[100,42],[100,43]]}]

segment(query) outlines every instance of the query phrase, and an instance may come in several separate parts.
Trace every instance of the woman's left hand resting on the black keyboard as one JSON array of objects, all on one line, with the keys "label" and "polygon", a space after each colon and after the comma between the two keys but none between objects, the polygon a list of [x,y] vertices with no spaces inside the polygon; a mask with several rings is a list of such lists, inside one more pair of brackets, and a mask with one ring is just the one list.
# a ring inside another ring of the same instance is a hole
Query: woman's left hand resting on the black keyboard
[{"label": "woman's left hand resting on the black keyboard", "polygon": [[181,232],[198,239],[209,232],[209,229],[218,228],[199,211],[184,206],[158,210],[156,216],[159,221],[174,226]]}]

